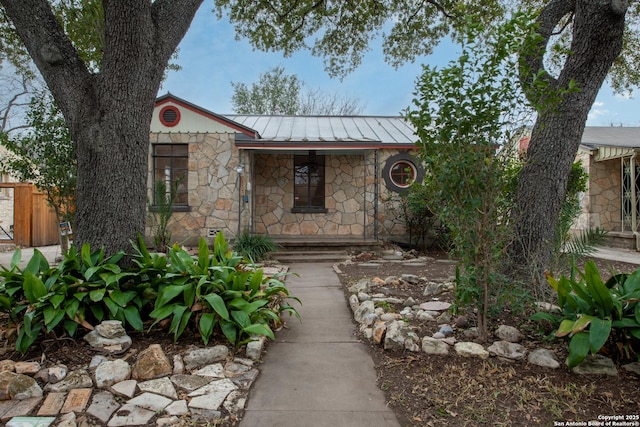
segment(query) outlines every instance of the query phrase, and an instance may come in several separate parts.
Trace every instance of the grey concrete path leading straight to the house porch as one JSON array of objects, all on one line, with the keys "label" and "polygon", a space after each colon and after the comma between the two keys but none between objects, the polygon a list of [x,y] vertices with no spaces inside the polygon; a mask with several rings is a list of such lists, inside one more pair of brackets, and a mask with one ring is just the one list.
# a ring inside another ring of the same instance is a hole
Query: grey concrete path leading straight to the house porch
[{"label": "grey concrete path leading straight to the house porch", "polygon": [[399,426],[376,386],[373,361],[355,336],[329,263],[291,264],[287,278],[302,322],[287,321],[267,347],[240,427]]}]

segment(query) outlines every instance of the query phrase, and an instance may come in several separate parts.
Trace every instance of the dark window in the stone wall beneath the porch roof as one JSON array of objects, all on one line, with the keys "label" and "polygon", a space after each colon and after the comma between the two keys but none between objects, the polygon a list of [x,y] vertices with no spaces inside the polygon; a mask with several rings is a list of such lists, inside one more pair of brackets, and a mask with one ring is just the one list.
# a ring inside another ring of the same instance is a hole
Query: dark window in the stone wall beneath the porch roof
[{"label": "dark window in the stone wall beneath the porch roof", "polygon": [[292,212],[326,212],[324,194],[324,156],[309,154],[293,156],[294,196]]}]

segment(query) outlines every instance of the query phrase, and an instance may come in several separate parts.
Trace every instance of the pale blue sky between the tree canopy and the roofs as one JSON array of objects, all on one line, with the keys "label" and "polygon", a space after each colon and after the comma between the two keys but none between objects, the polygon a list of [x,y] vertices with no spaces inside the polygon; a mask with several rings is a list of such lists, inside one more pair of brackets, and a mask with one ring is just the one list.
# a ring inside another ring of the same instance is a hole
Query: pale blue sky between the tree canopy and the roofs
[{"label": "pale blue sky between the tree canopy and the roofs", "polygon": [[[359,100],[362,115],[396,116],[411,106],[415,82],[422,64],[445,66],[459,51],[442,44],[428,57],[419,57],[396,69],[384,61],[379,39],[362,64],[342,80],[330,78],[323,59],[307,51],[285,58],[279,52],[254,50],[247,40],[235,40],[228,18],[218,20],[210,3],[201,6],[191,28],[179,45],[180,71],[170,71],[158,95],[173,95],[218,114],[233,113],[231,97],[234,83],[251,85],[261,74],[275,67],[295,74],[308,89],[346,94]],[[640,89],[638,90],[640,96]],[[594,103],[588,126],[640,126],[640,98],[614,95],[603,86]]]}]

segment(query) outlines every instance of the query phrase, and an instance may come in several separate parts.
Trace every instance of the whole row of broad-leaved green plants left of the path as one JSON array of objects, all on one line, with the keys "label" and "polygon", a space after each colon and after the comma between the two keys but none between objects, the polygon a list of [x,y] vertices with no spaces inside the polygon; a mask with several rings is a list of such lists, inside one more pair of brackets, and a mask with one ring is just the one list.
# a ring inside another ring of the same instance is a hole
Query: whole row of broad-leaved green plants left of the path
[{"label": "whole row of broad-leaved green plants left of the path", "polygon": [[9,314],[16,349],[26,353],[41,334],[74,336],[78,326],[93,329],[103,320],[117,319],[142,330],[170,320],[177,341],[187,327],[199,330],[207,344],[218,328],[234,345],[253,335],[273,338],[271,325],[283,312],[299,317],[282,276],[267,278],[263,270],[243,263],[230,251],[224,236],[216,237],[213,252],[200,240],[198,256],[174,245],[168,256],[151,254],[138,236],[135,267],[123,271],[118,252],[105,258],[88,244],[72,247],[57,267],[34,250],[24,270],[18,249],[9,268],[0,267],[0,310]]}]

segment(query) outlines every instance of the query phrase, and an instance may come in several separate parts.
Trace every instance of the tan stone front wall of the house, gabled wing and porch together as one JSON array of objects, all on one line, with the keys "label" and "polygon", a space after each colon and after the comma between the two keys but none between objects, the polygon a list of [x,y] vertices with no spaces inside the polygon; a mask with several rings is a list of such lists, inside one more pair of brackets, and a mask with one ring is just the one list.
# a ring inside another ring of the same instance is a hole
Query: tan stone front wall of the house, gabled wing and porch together
[{"label": "tan stone front wall of the house, gabled wing and porch together", "polygon": [[[373,151],[328,155],[325,176],[328,212],[302,214],[291,212],[292,154],[239,152],[231,133],[152,133],[150,141],[152,144],[189,144],[189,211],[175,212],[172,216],[169,230],[174,242],[193,244],[200,237],[211,240],[218,231],[233,238],[239,229],[273,237],[373,238],[376,180]],[[379,153],[378,170],[381,171],[384,160],[395,151]],[[151,155],[152,150],[149,153],[149,198],[153,184]],[[251,170],[252,163],[255,172]],[[238,164],[244,166],[240,177],[236,171]],[[388,202],[393,197],[383,180],[378,178],[378,181],[379,236],[401,238],[405,234],[404,226],[397,218],[397,209]],[[240,215],[239,209],[242,210]],[[253,224],[250,223],[252,219]],[[153,235],[149,227],[147,235]]]}]

